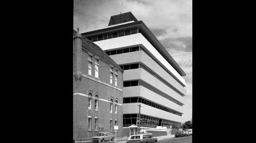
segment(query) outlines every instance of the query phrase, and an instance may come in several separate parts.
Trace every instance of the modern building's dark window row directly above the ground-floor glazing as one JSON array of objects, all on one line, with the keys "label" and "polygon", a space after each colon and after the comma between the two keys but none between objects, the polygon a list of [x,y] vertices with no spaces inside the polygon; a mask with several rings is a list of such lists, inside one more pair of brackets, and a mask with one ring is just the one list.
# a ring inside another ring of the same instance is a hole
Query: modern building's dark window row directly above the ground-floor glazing
[{"label": "modern building's dark window row directly above the ground-floor glazing", "polygon": [[145,105],[148,105],[148,106],[160,109],[162,111],[166,111],[166,112],[169,112],[169,113],[172,113],[172,114],[175,114],[175,115],[182,116],[182,114],[179,113],[179,112],[172,111],[171,109],[168,109],[166,107],[163,107],[161,105],[158,105],[158,104],[156,104],[154,102],[151,102],[151,101],[143,99],[143,98],[138,98],[138,97],[123,98],[123,103],[143,103]]}]

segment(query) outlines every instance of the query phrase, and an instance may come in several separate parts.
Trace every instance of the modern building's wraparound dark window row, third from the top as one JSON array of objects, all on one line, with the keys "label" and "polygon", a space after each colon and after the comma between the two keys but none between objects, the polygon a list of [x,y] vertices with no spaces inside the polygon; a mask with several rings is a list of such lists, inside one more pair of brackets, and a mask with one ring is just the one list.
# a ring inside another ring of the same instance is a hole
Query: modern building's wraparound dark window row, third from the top
[{"label": "modern building's wraparound dark window row, third from the top", "polygon": [[184,96],[183,94],[181,94],[179,92],[179,90],[175,89],[174,87],[170,86],[169,83],[167,83],[166,81],[163,81],[159,75],[154,74],[153,72],[151,72],[148,68],[144,67],[142,64],[139,63],[135,63],[135,64],[126,64],[123,66],[120,66],[123,70],[129,70],[129,69],[137,69],[137,68],[143,68],[144,70],[146,70],[149,74],[153,75],[154,77],[156,77],[156,79],[160,80],[164,85],[168,86],[169,88],[172,88],[176,93],[180,94],[181,96]]}]

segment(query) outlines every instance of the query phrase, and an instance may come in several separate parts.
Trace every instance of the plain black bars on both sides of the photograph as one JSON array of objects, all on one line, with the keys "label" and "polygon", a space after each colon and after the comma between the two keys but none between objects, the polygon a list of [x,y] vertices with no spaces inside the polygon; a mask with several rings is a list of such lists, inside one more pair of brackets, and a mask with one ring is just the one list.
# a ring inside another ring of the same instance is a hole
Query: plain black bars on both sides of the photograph
[{"label": "plain black bars on both sides of the photograph", "polygon": [[[73,2],[2,5],[2,139],[71,142]],[[193,1],[193,142],[253,129],[248,5]]]}]

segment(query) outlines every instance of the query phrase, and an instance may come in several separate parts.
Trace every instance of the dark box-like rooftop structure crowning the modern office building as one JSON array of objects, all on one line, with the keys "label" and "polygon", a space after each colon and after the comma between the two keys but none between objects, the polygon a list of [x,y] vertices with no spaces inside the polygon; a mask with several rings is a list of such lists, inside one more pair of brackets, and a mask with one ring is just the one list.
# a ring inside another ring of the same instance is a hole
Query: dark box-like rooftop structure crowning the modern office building
[{"label": "dark box-like rooftop structure crowning the modern office building", "polygon": [[135,16],[132,15],[131,12],[126,12],[124,14],[114,15],[110,17],[108,26],[125,23],[129,21],[138,21]]}]

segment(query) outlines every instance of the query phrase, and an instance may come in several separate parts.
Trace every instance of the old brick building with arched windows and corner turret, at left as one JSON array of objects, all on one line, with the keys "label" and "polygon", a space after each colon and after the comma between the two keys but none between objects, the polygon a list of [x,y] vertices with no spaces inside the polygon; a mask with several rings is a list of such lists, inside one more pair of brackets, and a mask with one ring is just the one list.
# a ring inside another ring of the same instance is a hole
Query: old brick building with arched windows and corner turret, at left
[{"label": "old brick building with arched windows and corner turret, at left", "polygon": [[117,137],[123,128],[123,69],[99,46],[74,30],[73,138],[89,138],[99,131]]}]

